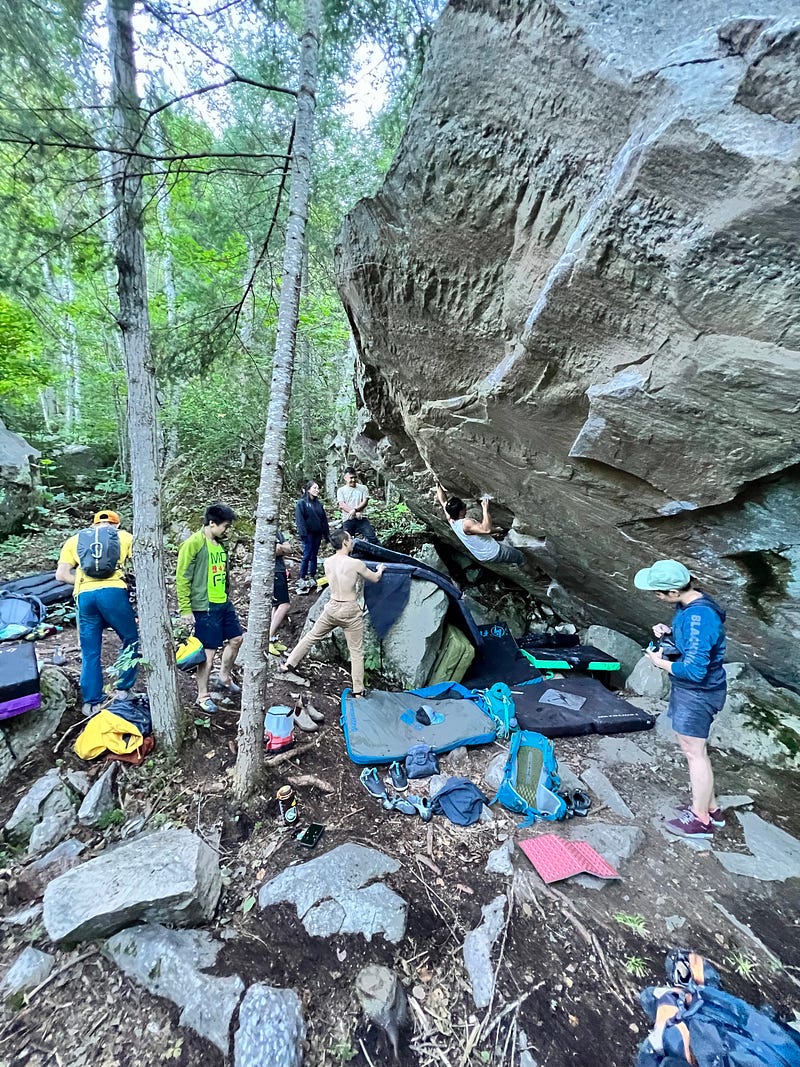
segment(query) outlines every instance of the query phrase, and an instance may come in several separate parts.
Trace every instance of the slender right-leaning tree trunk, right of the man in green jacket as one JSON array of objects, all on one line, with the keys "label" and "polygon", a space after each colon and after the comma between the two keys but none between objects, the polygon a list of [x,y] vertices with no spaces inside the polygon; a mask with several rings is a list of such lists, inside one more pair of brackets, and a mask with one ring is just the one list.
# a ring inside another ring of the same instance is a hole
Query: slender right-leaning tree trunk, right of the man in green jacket
[{"label": "slender right-leaning tree trunk, right of the man in green jacket", "polygon": [[267,660],[272,614],[272,583],[275,573],[275,534],[298,333],[305,225],[308,217],[320,12],[321,0],[306,0],[305,29],[301,38],[300,53],[300,90],[294,118],[289,220],[286,227],[275,359],[256,507],[247,635],[244,639],[244,685],[239,718],[239,754],[234,777],[234,792],[239,798],[247,796],[256,789],[263,771],[263,718],[268,704]]}]

